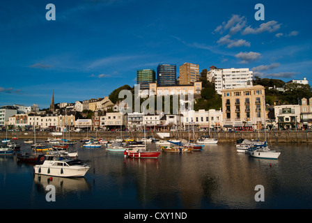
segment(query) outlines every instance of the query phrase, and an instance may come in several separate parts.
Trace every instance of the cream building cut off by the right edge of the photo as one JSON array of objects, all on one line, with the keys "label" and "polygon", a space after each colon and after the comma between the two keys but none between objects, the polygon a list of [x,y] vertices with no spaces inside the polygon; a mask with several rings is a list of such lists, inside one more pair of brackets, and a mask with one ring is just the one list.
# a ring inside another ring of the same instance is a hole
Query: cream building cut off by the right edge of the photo
[{"label": "cream building cut off by the right edge of the photo", "polygon": [[300,105],[300,122],[306,130],[312,127],[312,98],[302,98]]}]

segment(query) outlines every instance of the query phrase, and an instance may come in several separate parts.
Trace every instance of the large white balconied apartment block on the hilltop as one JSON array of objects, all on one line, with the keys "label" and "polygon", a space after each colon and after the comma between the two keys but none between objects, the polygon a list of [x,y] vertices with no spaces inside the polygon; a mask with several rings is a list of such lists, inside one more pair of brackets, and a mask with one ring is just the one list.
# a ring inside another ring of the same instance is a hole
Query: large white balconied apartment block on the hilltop
[{"label": "large white balconied apartment block on the hilltop", "polygon": [[221,94],[224,89],[235,89],[252,86],[253,72],[249,68],[216,68],[211,66],[207,79],[214,82],[214,89]]}]

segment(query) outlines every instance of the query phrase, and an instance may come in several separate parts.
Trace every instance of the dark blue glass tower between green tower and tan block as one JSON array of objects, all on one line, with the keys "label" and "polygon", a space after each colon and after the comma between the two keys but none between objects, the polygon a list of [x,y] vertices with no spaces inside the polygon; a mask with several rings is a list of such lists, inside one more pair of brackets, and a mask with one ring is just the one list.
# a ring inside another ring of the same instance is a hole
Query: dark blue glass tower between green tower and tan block
[{"label": "dark blue glass tower between green tower and tan block", "polygon": [[157,86],[177,85],[176,64],[159,64],[157,66]]}]

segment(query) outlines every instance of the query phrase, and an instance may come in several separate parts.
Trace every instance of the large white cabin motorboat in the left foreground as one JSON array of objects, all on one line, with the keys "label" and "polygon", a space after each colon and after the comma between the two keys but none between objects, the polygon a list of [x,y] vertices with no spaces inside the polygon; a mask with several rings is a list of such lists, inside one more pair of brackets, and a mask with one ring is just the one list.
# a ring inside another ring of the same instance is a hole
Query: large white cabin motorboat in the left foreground
[{"label": "large white cabin motorboat in the left foreground", "polygon": [[59,155],[39,155],[33,167],[35,174],[60,177],[83,177],[90,166],[81,160],[72,160]]}]

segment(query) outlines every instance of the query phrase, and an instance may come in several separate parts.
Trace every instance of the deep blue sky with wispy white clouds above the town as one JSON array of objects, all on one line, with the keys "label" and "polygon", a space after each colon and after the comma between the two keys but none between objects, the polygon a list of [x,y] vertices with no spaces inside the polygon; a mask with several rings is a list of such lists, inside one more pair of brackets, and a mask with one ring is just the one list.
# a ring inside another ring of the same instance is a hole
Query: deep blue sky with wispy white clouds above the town
[{"label": "deep blue sky with wispy white clouds above the town", "polygon": [[[48,3],[54,21],[45,18]],[[264,21],[254,18],[256,3]],[[312,82],[311,8],[306,0],[6,1],[0,105],[46,108],[52,91],[56,103],[101,98],[159,63]]]}]

